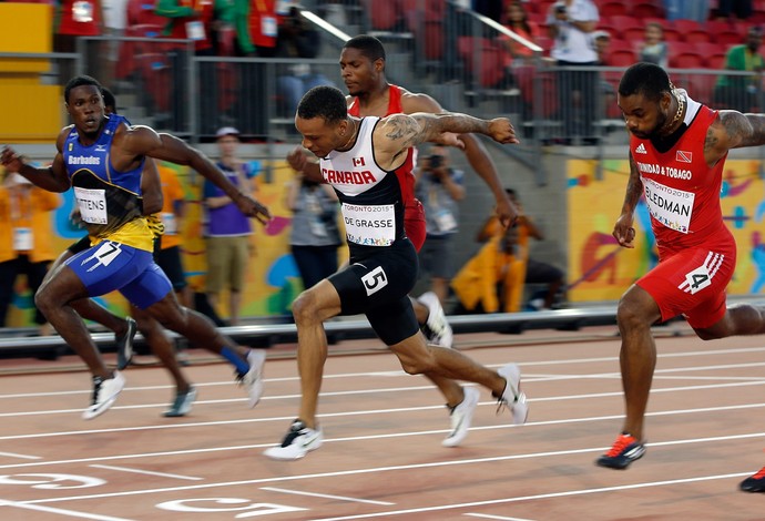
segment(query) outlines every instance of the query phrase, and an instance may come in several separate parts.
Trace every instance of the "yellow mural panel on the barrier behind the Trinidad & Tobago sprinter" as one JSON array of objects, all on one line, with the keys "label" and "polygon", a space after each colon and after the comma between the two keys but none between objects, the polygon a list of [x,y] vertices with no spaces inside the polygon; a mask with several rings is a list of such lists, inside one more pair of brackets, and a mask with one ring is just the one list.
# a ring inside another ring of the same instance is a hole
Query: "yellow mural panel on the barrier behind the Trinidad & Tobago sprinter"
[{"label": "yellow mural panel on the barrier behind the Trinidad & Tobago sprinter", "polygon": [[[620,247],[611,236],[621,212],[629,176],[626,160],[603,162],[595,180],[593,161],[570,161],[569,178],[569,299],[616,300],[657,262],[649,213],[641,202],[635,215],[635,248]],[[761,163],[728,161],[723,180],[724,218],[736,237],[738,262],[728,286],[731,295],[757,294],[765,287],[765,180]]]}]

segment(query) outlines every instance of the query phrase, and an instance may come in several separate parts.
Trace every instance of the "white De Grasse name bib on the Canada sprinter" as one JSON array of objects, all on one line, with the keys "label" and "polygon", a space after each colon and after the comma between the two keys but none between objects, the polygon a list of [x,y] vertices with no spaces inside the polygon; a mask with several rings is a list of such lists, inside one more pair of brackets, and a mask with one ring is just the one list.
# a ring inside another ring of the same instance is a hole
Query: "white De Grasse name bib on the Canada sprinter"
[{"label": "white De Grasse name bib on the Canada sprinter", "polygon": [[363,246],[390,246],[396,239],[392,204],[358,205],[343,203],[340,208],[348,241]]}]

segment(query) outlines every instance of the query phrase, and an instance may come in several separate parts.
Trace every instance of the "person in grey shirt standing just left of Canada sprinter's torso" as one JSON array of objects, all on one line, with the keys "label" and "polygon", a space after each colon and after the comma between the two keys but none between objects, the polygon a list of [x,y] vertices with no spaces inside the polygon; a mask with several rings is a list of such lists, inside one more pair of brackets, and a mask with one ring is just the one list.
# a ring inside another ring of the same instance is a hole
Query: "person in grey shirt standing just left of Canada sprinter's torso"
[{"label": "person in grey shirt standing just left of Canada sprinter's torso", "polygon": [[343,245],[337,194],[298,172],[287,190],[286,206],[293,211],[289,247],[303,288],[308,289],[337,272],[337,248]]}]

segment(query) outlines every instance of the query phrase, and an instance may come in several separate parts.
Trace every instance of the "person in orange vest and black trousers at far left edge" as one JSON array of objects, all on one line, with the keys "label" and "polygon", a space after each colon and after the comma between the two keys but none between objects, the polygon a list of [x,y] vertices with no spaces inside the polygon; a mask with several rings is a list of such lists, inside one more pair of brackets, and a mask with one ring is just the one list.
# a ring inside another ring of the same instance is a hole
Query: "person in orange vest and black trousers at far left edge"
[{"label": "person in orange vest and black trousers at far left edge", "polygon": [[[6,327],[13,285],[19,275],[34,295],[48,266],[55,258],[51,242],[51,212],[61,206],[61,196],[34,186],[16,172],[3,170],[0,184],[0,327]],[[32,303],[33,304],[33,303]],[[34,323],[41,335],[52,333],[44,315],[34,306]]]}]

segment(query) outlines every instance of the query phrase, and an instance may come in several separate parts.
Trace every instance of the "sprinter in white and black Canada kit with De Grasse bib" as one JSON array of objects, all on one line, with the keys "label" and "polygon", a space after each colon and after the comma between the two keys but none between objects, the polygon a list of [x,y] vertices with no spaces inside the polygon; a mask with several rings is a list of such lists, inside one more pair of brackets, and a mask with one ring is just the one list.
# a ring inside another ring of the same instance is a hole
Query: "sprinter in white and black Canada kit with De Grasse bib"
[{"label": "sprinter in white and black Canada kit with De Grasse bib", "polygon": [[324,320],[340,314],[365,314],[407,372],[428,375],[436,382],[455,409],[452,432],[443,442],[447,447],[467,436],[478,403],[478,390],[463,389],[456,380],[487,387],[512,410],[516,423],[524,422],[527,405],[518,366],[509,364],[494,371],[457,350],[426,343],[407,297],[417,276],[417,253],[404,229],[407,172],[401,166],[409,149],[425,141],[453,145],[457,137],[448,132],[480,132],[500,143],[518,143],[510,122],[451,113],[358,119],[348,115],[339,90],[317,86],[300,101],[295,126],[340,201],[350,262],[293,303],[300,410],[282,445],[265,454],[295,460],[320,447],[316,412],[327,357]]}]

